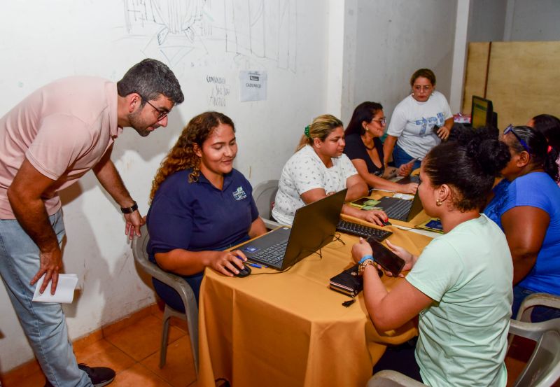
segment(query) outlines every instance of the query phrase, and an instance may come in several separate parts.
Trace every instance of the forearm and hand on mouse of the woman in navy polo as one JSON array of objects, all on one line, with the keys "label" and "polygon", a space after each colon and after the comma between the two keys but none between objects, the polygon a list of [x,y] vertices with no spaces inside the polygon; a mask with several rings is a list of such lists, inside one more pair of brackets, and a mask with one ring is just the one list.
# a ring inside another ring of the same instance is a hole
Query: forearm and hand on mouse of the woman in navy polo
[{"label": "forearm and hand on mouse of the woman in navy polo", "polygon": [[181,276],[190,276],[211,267],[221,274],[233,276],[225,267],[238,273],[243,267],[243,261],[247,258],[239,250],[234,251],[188,251],[176,248],[167,253],[155,253],[155,260],[166,272],[172,272]]}]

